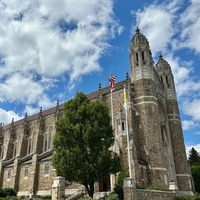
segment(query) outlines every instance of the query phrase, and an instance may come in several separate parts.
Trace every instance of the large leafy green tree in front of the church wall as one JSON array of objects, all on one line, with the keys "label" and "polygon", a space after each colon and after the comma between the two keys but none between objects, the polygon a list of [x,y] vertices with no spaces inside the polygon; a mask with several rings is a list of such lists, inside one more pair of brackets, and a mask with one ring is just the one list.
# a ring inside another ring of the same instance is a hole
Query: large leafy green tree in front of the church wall
[{"label": "large leafy green tree in front of the church wall", "polygon": [[56,131],[53,166],[57,174],[83,184],[93,197],[94,182],[120,170],[119,157],[110,148],[114,135],[107,106],[77,93],[65,103]]}]

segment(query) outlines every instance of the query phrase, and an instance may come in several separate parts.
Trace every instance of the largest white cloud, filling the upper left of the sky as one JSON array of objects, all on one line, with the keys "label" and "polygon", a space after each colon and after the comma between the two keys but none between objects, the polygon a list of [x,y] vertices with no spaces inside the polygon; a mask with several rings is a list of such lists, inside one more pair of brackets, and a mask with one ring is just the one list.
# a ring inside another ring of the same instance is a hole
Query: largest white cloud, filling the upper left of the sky
[{"label": "largest white cloud, filling the upper left of the sky", "polygon": [[73,84],[80,76],[101,70],[98,61],[109,47],[107,39],[121,32],[112,4],[1,1],[0,77],[16,71],[50,77],[66,73]]}]

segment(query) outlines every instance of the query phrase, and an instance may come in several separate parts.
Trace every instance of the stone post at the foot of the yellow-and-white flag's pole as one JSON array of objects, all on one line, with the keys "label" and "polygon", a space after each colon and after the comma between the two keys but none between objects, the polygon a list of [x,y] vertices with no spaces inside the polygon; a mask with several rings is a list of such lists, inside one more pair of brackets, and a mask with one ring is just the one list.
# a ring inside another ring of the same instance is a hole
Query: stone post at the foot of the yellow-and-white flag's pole
[{"label": "stone post at the foot of the yellow-and-white flag's pole", "polygon": [[124,200],[134,199],[134,188],[135,188],[134,180],[131,178],[125,178],[123,184]]}]

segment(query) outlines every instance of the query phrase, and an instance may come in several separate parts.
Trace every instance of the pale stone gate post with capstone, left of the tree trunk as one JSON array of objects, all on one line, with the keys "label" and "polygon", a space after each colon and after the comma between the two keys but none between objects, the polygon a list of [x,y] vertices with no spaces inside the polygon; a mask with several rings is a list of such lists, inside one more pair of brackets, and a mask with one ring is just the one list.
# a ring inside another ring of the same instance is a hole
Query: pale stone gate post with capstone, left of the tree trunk
[{"label": "pale stone gate post with capstone, left of the tree trunk", "polygon": [[52,200],[65,199],[65,179],[63,177],[58,176],[53,179],[51,195]]}]

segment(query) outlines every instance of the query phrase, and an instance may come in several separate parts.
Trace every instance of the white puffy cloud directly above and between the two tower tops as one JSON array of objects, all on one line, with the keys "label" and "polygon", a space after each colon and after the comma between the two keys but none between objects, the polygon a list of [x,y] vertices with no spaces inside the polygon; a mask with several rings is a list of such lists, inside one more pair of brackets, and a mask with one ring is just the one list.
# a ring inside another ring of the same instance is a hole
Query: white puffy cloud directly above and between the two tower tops
[{"label": "white puffy cloud directly above and between the two tower tops", "polygon": [[[180,1],[172,3],[153,3],[143,11],[134,12],[136,15],[136,25],[147,36],[153,55],[165,53],[172,41],[174,30],[174,12],[179,8]],[[133,26],[135,30],[135,25]],[[133,30],[132,30],[133,32]],[[170,41],[170,42],[169,42]]]}]

